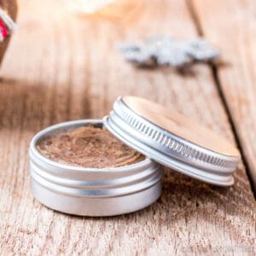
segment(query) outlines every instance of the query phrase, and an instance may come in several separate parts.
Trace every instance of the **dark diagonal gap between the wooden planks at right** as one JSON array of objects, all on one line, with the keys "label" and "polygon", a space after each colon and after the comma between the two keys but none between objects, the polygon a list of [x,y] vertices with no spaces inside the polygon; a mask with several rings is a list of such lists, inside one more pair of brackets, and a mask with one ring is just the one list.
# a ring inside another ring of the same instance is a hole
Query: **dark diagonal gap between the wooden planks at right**
[{"label": "dark diagonal gap between the wooden planks at right", "polygon": [[[203,32],[203,29],[201,27],[200,20],[197,17],[196,9],[194,7],[194,4],[191,2],[191,0],[186,0],[186,3],[187,3],[187,6],[188,6],[188,9],[189,9],[189,14],[191,15],[191,19],[194,20],[196,32],[198,33],[199,36],[203,37],[204,32]],[[250,168],[249,168],[249,165],[248,165],[248,162],[247,162],[247,157],[246,157],[246,154],[245,154],[245,152],[242,148],[242,144],[241,144],[241,140],[240,140],[240,137],[238,135],[238,132],[236,131],[236,125],[235,125],[235,122],[232,118],[232,114],[231,114],[231,111],[230,111],[229,104],[226,100],[226,97],[224,96],[224,91],[222,89],[221,82],[218,79],[218,66],[216,64],[212,63],[212,64],[209,65],[209,67],[212,70],[212,79],[213,79],[214,84],[217,87],[218,95],[220,97],[220,100],[221,100],[221,102],[224,106],[224,110],[225,110],[225,112],[227,114],[227,117],[228,117],[228,120],[230,122],[231,130],[232,130],[233,135],[235,137],[236,145],[240,150],[241,160],[243,162],[243,165],[245,166],[245,169],[246,169],[246,172],[247,172],[247,177],[248,177],[248,180],[250,182],[250,187],[251,187],[251,190],[253,191],[254,199],[256,199],[256,188],[253,186],[253,177],[252,177],[252,174],[250,172]]]}]

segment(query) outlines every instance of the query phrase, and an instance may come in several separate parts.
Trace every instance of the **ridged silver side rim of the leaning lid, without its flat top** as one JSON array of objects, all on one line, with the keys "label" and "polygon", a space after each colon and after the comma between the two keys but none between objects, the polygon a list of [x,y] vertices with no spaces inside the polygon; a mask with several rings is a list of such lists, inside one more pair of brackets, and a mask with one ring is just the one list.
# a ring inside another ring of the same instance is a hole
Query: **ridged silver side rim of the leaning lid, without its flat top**
[{"label": "ridged silver side rim of the leaning lid, without its flat top", "polygon": [[104,125],[115,137],[148,158],[207,183],[229,186],[239,158],[218,154],[177,137],[144,119],[129,108],[122,98],[113,104],[113,111]]}]

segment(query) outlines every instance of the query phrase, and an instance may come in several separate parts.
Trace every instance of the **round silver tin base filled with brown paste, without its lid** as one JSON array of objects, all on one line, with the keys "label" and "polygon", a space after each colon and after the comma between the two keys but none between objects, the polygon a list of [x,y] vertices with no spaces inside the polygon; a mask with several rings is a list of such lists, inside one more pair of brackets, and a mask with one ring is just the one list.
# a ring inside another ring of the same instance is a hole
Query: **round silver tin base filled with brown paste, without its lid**
[{"label": "round silver tin base filled with brown paste, without its lid", "polygon": [[32,195],[82,216],[135,212],[156,201],[162,169],[103,127],[102,119],[50,126],[29,149]]}]

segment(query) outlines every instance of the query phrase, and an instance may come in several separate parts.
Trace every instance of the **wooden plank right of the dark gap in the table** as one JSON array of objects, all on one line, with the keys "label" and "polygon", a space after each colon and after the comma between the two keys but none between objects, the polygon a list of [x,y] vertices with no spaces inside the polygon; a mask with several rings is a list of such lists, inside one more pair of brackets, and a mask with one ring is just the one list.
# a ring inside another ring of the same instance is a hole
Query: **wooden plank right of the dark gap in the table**
[{"label": "wooden plank right of the dark gap in the table", "polygon": [[256,3],[250,0],[193,3],[203,33],[219,47],[227,62],[226,67],[218,69],[218,76],[255,190]]}]

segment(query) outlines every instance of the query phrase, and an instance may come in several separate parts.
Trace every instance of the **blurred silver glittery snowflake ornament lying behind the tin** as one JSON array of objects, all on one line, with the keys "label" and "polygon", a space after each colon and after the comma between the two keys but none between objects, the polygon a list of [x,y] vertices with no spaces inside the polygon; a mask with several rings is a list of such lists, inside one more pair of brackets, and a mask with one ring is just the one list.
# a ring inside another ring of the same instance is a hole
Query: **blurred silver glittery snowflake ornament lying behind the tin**
[{"label": "blurred silver glittery snowflake ornament lying behind the tin", "polygon": [[177,41],[172,37],[148,38],[135,43],[120,43],[119,49],[125,60],[139,66],[170,65],[182,68],[196,61],[207,62],[218,58],[218,51],[203,38],[190,41]]}]

